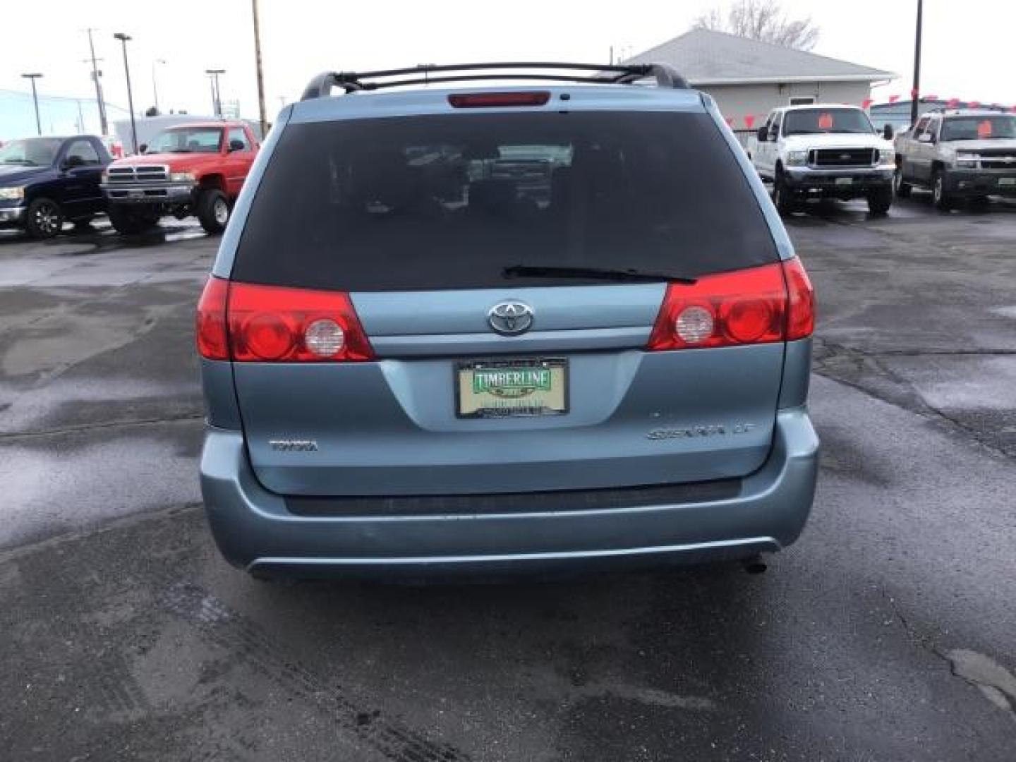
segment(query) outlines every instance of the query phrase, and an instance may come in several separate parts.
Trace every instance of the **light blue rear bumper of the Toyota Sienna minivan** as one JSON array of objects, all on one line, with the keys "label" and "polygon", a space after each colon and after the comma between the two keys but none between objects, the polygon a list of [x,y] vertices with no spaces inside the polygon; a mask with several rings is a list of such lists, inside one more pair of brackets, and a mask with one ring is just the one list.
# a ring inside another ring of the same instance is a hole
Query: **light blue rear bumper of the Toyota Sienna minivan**
[{"label": "light blue rear bumper of the Toyota Sienna minivan", "polygon": [[807,408],[780,410],[765,464],[739,494],[679,505],[555,512],[296,515],[255,478],[239,432],[209,428],[201,492],[230,563],[297,576],[428,577],[698,563],[778,551],[811,510],[819,441]]}]

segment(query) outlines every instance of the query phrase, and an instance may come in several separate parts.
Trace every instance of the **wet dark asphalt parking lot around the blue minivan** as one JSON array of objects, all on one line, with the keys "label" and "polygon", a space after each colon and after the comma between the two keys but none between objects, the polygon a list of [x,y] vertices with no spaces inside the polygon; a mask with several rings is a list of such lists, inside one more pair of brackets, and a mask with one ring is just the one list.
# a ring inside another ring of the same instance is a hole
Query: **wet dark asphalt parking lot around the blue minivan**
[{"label": "wet dark asphalt parking lot around the blue minivan", "polygon": [[787,223],[811,522],[764,575],[265,585],[200,512],[216,239],[0,235],[11,760],[1016,758],[1016,206]]}]

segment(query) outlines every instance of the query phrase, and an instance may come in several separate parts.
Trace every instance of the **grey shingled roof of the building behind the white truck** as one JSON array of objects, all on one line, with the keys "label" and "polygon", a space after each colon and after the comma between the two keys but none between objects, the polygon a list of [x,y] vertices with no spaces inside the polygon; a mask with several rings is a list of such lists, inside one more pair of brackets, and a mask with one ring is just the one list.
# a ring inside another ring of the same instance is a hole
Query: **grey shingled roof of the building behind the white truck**
[{"label": "grey shingled roof of the building behind the white truck", "polygon": [[625,63],[669,63],[693,85],[892,79],[873,69],[807,51],[709,29],[692,29]]}]

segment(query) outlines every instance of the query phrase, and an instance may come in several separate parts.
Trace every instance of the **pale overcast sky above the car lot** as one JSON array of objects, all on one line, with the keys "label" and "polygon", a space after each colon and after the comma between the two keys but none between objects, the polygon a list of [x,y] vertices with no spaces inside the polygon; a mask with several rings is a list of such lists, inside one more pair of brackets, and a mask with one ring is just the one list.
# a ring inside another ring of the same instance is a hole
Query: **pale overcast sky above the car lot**
[{"label": "pale overcast sky above the car lot", "polygon": [[[326,69],[484,60],[606,62],[686,31],[710,0],[618,4],[572,0],[414,0],[373,3],[260,0],[269,119]],[[877,100],[910,89],[916,0],[784,0],[790,15],[821,27],[814,52],[897,73]],[[1012,63],[1016,0],[926,0],[922,90],[1016,104]],[[21,72],[40,71],[42,91],[93,94],[87,26],[105,58],[106,98],[127,106],[114,31],[125,31],[137,110],[160,106],[209,113],[206,68],[225,68],[224,101],[257,114],[250,0],[0,0],[0,88],[24,89]]]}]

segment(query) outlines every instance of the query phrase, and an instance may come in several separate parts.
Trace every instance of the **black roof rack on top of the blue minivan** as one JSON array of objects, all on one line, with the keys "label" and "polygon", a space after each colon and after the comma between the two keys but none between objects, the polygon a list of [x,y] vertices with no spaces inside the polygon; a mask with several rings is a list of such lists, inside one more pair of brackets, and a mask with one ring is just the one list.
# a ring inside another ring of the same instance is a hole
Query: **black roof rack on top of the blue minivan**
[{"label": "black roof rack on top of the blue minivan", "polygon": [[[592,71],[596,73],[590,76],[575,73],[534,73],[533,69],[552,72],[571,70],[573,72]],[[495,70],[501,73],[471,73],[484,70]],[[445,72],[451,73],[445,75]],[[432,76],[432,74],[440,74],[441,76]],[[656,84],[660,87],[688,88],[688,81],[678,73],[677,69],[664,63],[607,65],[548,62],[474,63],[412,66],[406,69],[384,69],[359,73],[326,71],[310,81],[300,100],[328,98],[331,96],[332,87],[341,87],[346,93],[350,93],[409,84],[439,84],[487,79],[541,79],[594,84],[631,84],[650,76],[655,77]],[[381,81],[377,81],[379,79]]]}]

